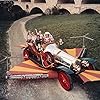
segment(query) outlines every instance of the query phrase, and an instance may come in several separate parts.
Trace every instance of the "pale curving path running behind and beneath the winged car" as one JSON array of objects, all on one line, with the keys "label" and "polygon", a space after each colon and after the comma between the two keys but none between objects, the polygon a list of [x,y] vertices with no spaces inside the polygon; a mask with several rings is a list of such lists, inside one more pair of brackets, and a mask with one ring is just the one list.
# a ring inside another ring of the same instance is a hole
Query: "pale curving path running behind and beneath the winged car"
[{"label": "pale curving path running behind and beneath the winged car", "polygon": [[[36,16],[40,15],[22,18],[14,22],[8,30],[12,66],[23,60],[22,50],[18,45],[25,43],[25,23]],[[7,91],[8,100],[89,100],[86,91],[78,84],[74,85],[72,91],[67,92],[60,86],[57,79],[8,80]]]}]

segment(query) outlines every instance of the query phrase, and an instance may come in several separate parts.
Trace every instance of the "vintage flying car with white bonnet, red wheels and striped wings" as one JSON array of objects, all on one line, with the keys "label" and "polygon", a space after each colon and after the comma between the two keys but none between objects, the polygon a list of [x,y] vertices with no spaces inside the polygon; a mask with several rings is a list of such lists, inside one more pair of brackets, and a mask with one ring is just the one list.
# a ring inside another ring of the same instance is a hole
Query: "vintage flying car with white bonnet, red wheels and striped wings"
[{"label": "vintage flying car with white bonnet, red wheels and striped wings", "polygon": [[73,87],[73,77],[78,76],[84,83],[100,80],[100,72],[93,66],[95,60],[84,58],[86,48],[61,50],[55,43],[46,45],[42,51],[34,44],[22,47],[25,61],[7,71],[8,79],[57,78],[67,91]]}]

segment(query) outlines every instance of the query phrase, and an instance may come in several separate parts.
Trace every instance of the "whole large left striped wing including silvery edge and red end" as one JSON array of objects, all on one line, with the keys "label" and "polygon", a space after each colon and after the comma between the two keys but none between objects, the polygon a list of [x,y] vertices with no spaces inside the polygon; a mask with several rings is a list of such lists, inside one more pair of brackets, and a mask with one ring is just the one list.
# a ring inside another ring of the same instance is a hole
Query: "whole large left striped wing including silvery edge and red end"
[{"label": "whole large left striped wing including silvery edge and red end", "polygon": [[[40,67],[38,64],[35,64],[31,60],[22,62],[19,65],[14,66],[7,72],[7,76],[10,79],[20,79],[22,77],[28,78],[57,78],[58,73],[52,70],[47,70]],[[30,77],[29,77],[30,76]],[[33,77],[32,77],[33,76]],[[35,77],[37,76],[37,77]],[[27,79],[27,78],[26,78]]]}]

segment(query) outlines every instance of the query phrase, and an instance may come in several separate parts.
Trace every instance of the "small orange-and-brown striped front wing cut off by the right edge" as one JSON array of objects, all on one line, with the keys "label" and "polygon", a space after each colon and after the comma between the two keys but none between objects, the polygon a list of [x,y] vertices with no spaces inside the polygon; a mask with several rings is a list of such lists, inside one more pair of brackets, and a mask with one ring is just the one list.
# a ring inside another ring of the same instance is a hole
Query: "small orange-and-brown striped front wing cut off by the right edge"
[{"label": "small orange-and-brown striped front wing cut off by the right edge", "polygon": [[100,71],[85,70],[84,72],[80,73],[79,76],[84,83],[89,81],[100,81]]}]

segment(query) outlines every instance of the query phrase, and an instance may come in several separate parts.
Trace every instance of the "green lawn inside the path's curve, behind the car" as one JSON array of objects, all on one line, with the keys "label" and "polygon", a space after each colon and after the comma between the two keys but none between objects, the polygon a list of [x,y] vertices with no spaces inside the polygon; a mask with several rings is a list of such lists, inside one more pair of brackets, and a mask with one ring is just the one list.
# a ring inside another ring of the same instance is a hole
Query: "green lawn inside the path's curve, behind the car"
[{"label": "green lawn inside the path's curve, behind the car", "polygon": [[[70,39],[70,37],[90,33],[88,36],[94,41],[85,40],[87,57],[100,61],[100,15],[41,16],[26,23],[27,30],[34,31],[35,28],[42,33],[49,31],[56,41],[62,38],[65,42],[62,48],[82,47],[82,39]],[[99,64],[97,67],[100,69]]]}]

